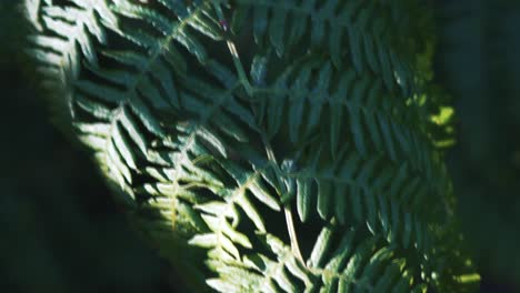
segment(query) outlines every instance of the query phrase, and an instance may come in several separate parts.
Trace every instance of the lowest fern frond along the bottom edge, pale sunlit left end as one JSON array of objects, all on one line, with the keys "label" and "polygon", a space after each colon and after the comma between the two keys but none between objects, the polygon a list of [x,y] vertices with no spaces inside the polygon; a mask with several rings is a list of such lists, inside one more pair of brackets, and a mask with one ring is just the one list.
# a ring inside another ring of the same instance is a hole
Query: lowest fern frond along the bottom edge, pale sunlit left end
[{"label": "lowest fern frond along the bottom edge, pale sunlit left end", "polygon": [[[243,280],[257,280],[257,290],[262,292],[422,292],[426,283],[414,279],[417,267],[407,264],[399,255],[397,246],[384,245],[379,236],[356,239],[362,229],[348,231],[327,225],[318,235],[311,255],[301,263],[291,249],[271,235],[259,238],[269,253],[244,256],[244,265],[212,265],[220,279],[210,280],[209,284],[219,292],[251,291],[250,283]],[[364,231],[366,232],[366,231]],[[246,279],[247,277],[247,279]]]}]

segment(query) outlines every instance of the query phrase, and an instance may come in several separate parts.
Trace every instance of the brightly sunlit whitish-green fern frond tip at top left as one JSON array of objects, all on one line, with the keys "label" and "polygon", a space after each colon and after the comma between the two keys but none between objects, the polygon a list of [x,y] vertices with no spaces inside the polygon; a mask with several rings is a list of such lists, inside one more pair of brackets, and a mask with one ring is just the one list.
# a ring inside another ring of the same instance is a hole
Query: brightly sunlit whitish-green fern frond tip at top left
[{"label": "brightly sunlit whitish-green fern frond tip at top left", "polygon": [[42,33],[29,38],[27,51],[37,60],[43,89],[53,97],[50,104],[57,124],[67,129],[72,121],[72,87],[79,78],[81,60],[97,63],[93,41],[107,42],[97,16],[103,16],[107,23],[117,22],[104,2],[76,0],[70,3],[73,6],[53,6],[51,0],[27,4],[32,23],[44,28]]}]

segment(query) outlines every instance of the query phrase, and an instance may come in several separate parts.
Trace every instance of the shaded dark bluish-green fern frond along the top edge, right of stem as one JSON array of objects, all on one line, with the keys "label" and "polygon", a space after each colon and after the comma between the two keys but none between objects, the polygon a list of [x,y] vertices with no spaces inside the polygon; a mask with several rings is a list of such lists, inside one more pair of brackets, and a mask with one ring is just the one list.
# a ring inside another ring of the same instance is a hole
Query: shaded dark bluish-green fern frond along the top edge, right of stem
[{"label": "shaded dark bluish-green fern frond along the top edge, right of stem", "polygon": [[383,12],[391,10],[390,3],[340,0],[236,2],[239,7],[233,14],[236,30],[251,13],[256,42],[259,46],[269,43],[280,57],[291,53],[294,48],[327,50],[337,68],[342,68],[344,60],[351,60],[358,73],[373,71],[383,78],[389,89],[400,85],[408,90],[411,85],[406,84],[412,77],[410,64],[403,62],[406,52],[397,51],[399,47],[386,46],[399,40],[392,38],[396,33],[390,29],[396,27],[396,20]]}]

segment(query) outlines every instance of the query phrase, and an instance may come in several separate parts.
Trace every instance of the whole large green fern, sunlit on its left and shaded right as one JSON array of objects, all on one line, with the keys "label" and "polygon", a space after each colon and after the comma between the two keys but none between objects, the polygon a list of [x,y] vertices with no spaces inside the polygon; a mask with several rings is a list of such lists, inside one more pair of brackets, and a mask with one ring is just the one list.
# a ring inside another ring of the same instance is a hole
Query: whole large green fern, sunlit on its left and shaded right
[{"label": "whole large green fern, sunlit on its left and shaded right", "polygon": [[193,291],[471,289],[416,2],[28,8],[61,123]]}]

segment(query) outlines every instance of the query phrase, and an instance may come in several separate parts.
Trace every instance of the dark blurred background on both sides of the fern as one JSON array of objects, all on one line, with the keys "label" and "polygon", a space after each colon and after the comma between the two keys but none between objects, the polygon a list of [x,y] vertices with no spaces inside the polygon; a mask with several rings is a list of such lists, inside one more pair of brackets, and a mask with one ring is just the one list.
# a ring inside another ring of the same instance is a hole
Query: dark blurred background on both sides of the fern
[{"label": "dark blurred background on both sides of the fern", "polygon": [[[51,125],[20,51],[16,3],[0,0],[0,291],[180,291],[87,155]],[[520,4],[434,6],[436,75],[458,115],[448,156],[458,214],[481,292],[520,292]]]}]

